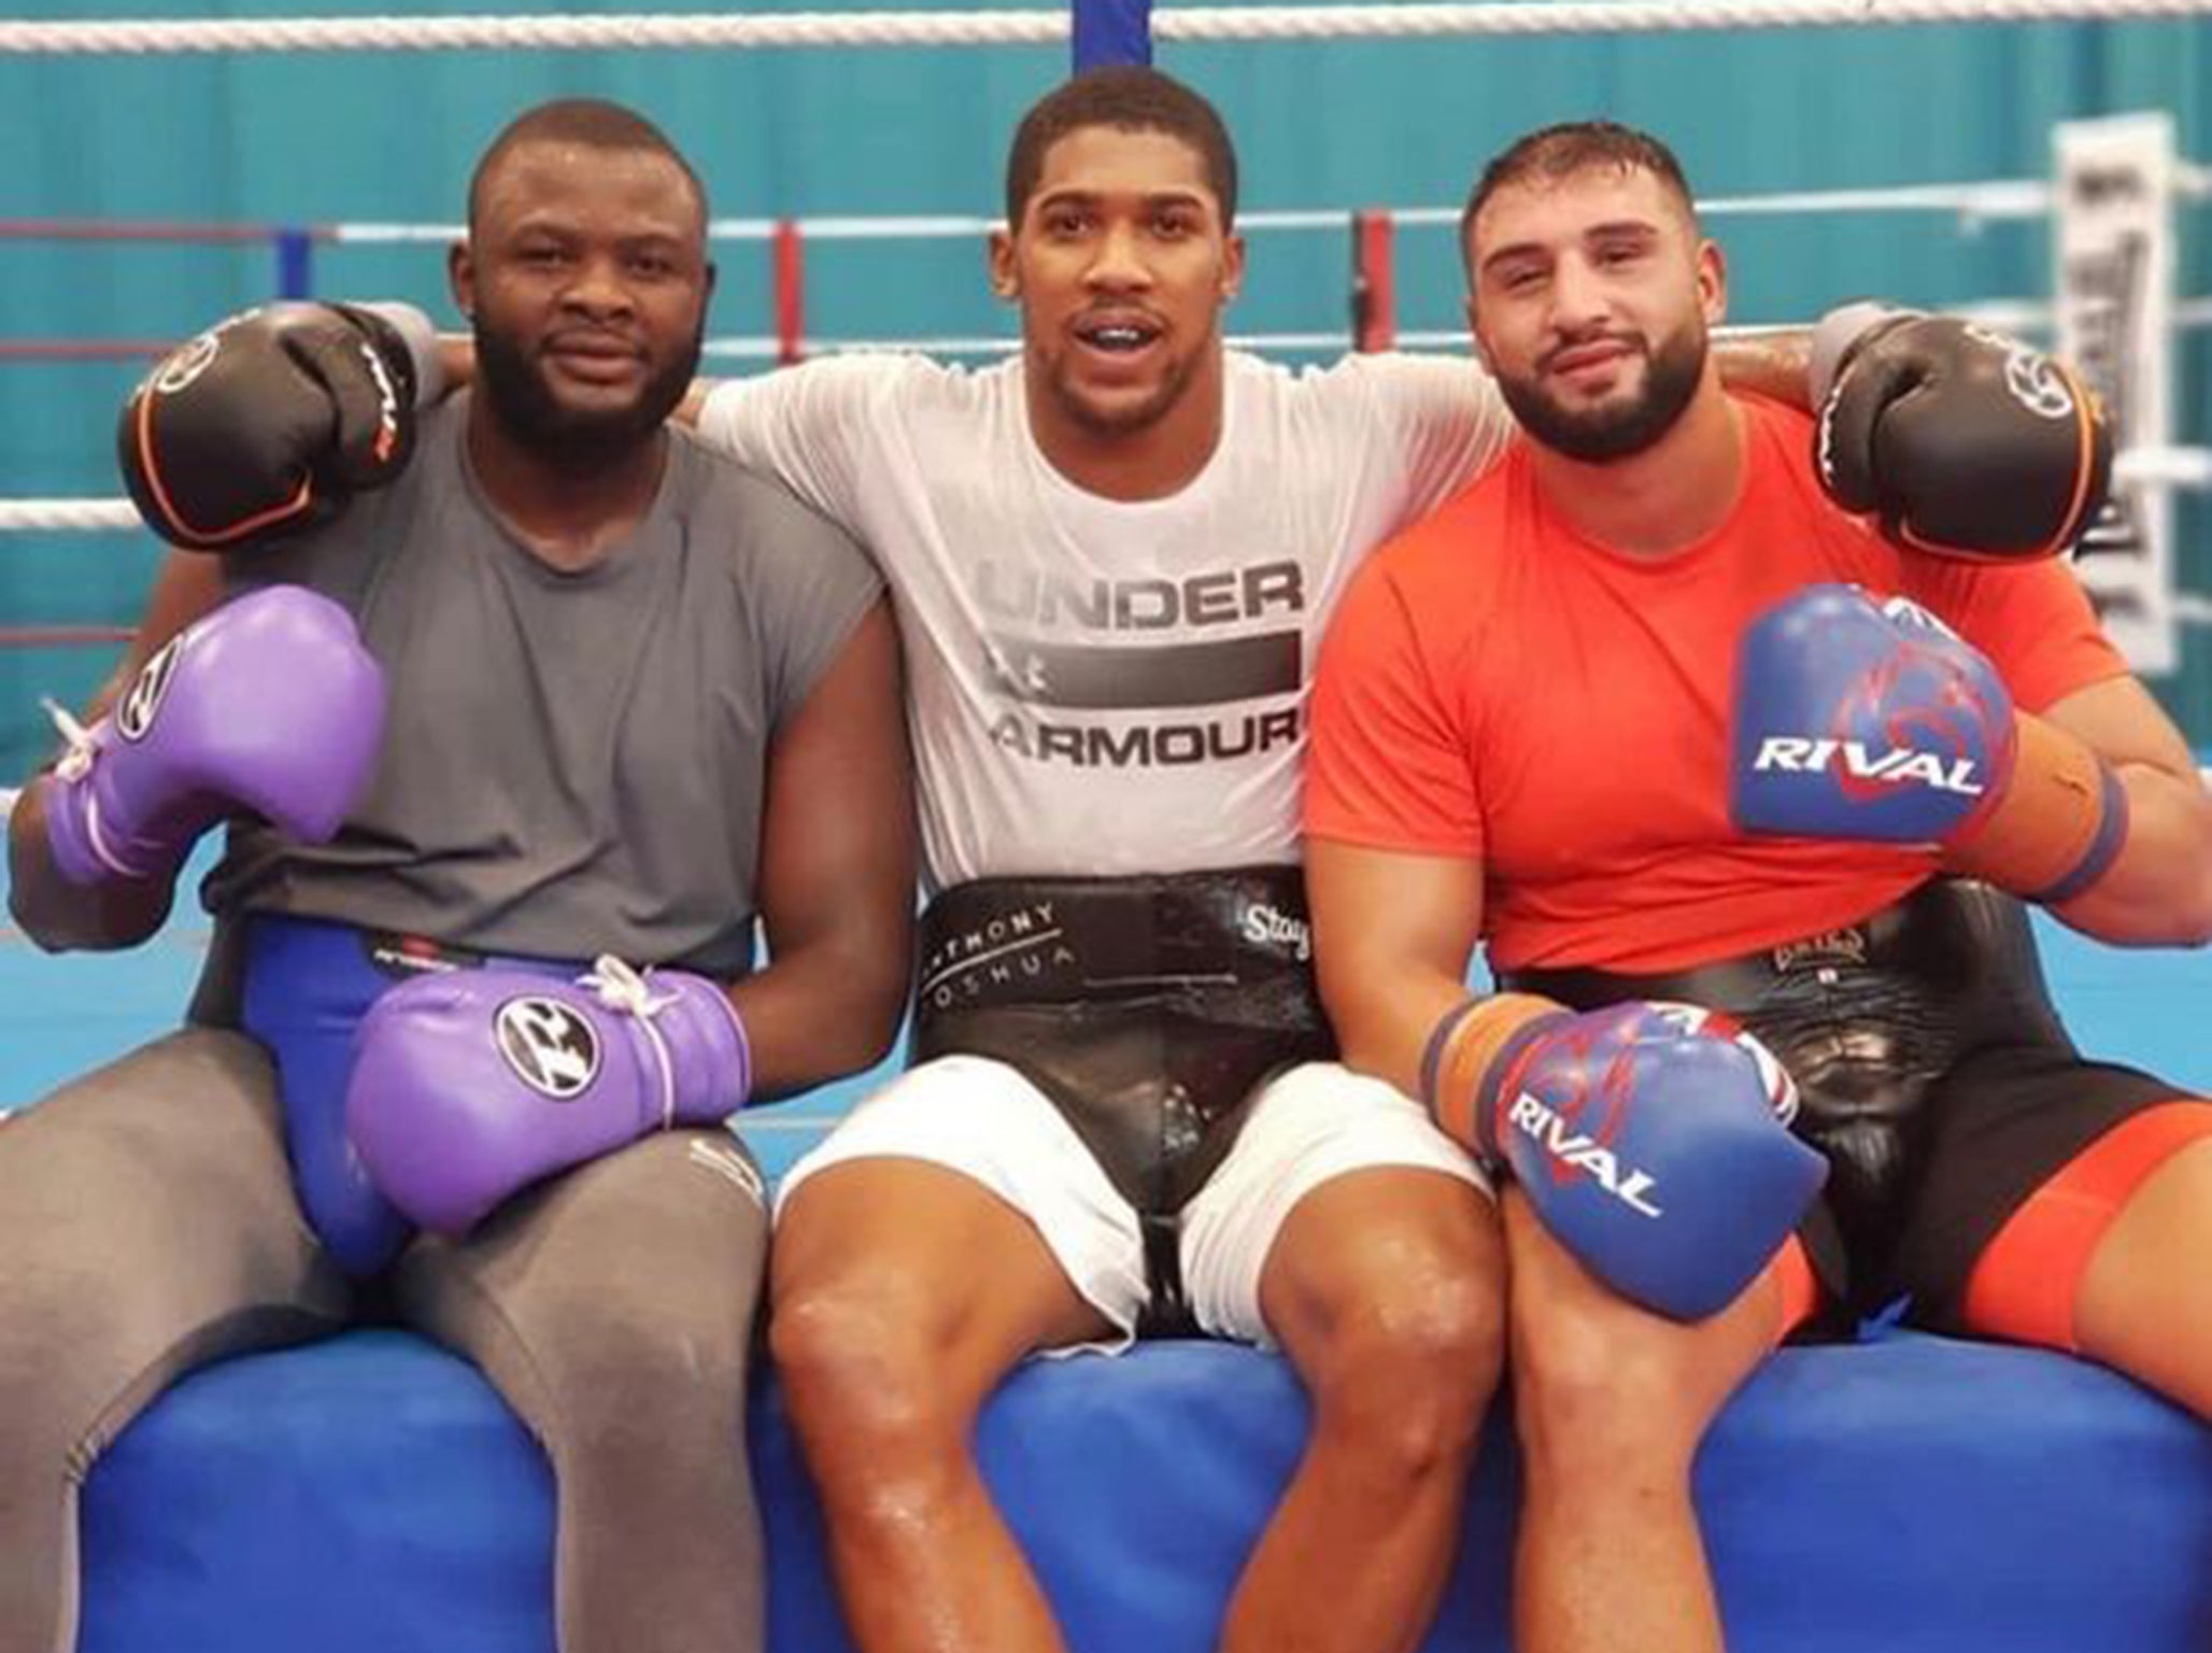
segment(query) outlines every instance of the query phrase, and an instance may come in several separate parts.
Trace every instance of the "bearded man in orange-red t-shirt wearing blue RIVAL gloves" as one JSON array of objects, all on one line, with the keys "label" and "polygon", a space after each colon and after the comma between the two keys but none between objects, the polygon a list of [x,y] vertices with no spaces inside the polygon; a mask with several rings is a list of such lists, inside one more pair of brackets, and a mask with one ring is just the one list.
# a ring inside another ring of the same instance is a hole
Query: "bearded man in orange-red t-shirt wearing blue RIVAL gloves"
[{"label": "bearded man in orange-red t-shirt wearing blue RIVAL gloves", "polygon": [[[1823,1306],[2212,1414],[2212,1277],[2172,1266],[2212,1255],[2212,1104],[2075,1056],[2015,898],[2201,945],[2212,799],[2064,562],[1900,549],[1823,498],[1809,418],[1721,387],[1725,268],[1661,144],[1537,133],[1462,228],[1526,436],[1327,640],[1323,996],[1517,1177],[1517,1646],[1719,1649],[1690,1463]],[[1796,1235],[1705,1268],[1761,1199]]]}]

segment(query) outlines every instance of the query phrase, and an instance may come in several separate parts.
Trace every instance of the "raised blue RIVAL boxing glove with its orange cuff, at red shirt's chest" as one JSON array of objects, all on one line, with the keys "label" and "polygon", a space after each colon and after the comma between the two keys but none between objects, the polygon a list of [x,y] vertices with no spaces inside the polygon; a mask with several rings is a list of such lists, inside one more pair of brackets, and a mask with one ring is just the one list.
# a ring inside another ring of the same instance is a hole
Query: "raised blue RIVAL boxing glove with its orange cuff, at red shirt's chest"
[{"label": "raised blue RIVAL boxing glove with its orange cuff, at red shirt's chest", "polygon": [[1736,655],[1730,814],[1745,832],[1933,843],[1953,872],[2059,905],[2119,856],[2128,799],[2090,746],[2015,710],[1931,613],[1816,584]]}]

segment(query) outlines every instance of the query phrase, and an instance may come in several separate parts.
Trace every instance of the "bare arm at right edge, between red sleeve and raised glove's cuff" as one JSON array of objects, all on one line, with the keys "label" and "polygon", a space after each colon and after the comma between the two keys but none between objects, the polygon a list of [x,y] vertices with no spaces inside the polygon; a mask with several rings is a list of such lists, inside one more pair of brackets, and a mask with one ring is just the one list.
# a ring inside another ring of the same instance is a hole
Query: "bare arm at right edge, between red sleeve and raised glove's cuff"
[{"label": "bare arm at right edge, between red sleeve and raised glove's cuff", "polygon": [[2181,730],[2135,677],[2075,690],[2044,719],[2088,741],[2128,792],[2119,859],[2057,916],[2119,945],[2212,943],[2212,792]]}]

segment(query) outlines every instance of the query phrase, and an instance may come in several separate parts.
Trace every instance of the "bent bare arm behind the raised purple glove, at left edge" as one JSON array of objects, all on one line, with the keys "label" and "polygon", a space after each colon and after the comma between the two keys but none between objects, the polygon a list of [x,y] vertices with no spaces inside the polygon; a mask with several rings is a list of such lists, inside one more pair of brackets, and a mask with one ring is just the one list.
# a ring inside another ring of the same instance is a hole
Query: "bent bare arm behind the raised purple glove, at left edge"
[{"label": "bent bare arm behind the raised purple glove, at left edge", "polygon": [[[82,719],[102,717],[146,659],[223,600],[221,558],[170,551],[155,573],[146,615],[122,664],[93,695]],[[44,788],[27,786],[7,828],[9,912],[46,952],[135,947],[161,927],[175,898],[170,879],[73,885],[46,850]]]}]

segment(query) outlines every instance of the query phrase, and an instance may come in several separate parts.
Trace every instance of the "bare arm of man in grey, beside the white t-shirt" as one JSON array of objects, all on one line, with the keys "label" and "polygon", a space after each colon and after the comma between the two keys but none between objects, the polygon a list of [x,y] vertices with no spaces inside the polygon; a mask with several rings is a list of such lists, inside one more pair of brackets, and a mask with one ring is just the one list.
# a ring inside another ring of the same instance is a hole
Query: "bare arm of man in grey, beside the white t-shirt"
[{"label": "bare arm of man in grey, beside the white t-shirt", "polygon": [[768,967],[730,989],[752,1038],[754,1098],[889,1049],[911,978],[914,887],[898,633],[878,602],[770,750]]}]

